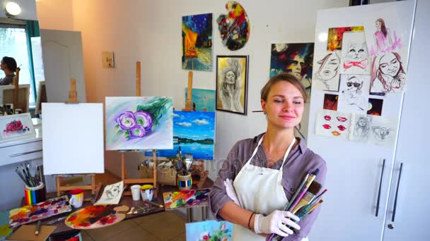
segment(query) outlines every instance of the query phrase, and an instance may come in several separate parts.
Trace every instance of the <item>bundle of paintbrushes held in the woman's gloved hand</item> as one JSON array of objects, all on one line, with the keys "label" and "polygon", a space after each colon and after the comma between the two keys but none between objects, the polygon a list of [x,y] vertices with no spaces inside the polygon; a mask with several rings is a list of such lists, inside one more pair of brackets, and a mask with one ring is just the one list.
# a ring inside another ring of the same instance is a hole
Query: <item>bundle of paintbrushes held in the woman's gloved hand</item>
[{"label": "bundle of paintbrushes held in the woman's gloved hand", "polygon": [[[313,172],[308,171],[308,174],[303,178],[300,186],[291,198],[291,201],[286,206],[285,211],[291,211],[292,214],[302,219],[323,202],[321,197],[322,194],[327,192],[327,189],[318,195],[318,192],[321,190],[321,185],[320,183],[314,182],[319,172],[320,170],[318,168]],[[266,240],[282,240],[283,238],[284,237],[272,233]]]}]

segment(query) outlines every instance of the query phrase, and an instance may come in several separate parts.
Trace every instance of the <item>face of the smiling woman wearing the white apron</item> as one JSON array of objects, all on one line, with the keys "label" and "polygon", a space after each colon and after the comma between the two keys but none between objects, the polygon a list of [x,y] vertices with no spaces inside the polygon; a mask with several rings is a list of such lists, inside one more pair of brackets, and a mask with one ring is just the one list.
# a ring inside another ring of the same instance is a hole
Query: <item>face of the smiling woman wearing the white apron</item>
[{"label": "face of the smiling woman wearing the white apron", "polygon": [[301,121],[304,109],[303,95],[290,82],[280,81],[272,86],[267,101],[261,100],[267,121],[280,129],[290,129]]}]

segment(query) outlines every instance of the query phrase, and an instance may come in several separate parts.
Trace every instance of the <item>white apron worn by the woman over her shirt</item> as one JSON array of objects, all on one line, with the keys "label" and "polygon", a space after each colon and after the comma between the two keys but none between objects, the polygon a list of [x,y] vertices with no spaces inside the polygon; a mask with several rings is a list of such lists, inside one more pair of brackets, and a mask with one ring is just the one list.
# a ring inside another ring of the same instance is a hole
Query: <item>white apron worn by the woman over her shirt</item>
[{"label": "white apron worn by the woman over her shirt", "polygon": [[[284,210],[288,204],[286,199],[284,187],[282,187],[282,169],[291,148],[296,142],[293,142],[286,149],[282,165],[279,170],[272,168],[263,168],[251,164],[252,158],[257,153],[258,147],[262,143],[264,135],[261,137],[251,158],[245,163],[243,168],[236,176],[233,186],[238,195],[240,206],[244,209],[255,211],[257,214],[268,215],[274,210]],[[265,237],[257,235],[248,228],[241,225],[233,224],[233,237],[232,241],[238,240],[260,240],[264,241]],[[308,241],[308,238],[303,238],[302,241]]]}]

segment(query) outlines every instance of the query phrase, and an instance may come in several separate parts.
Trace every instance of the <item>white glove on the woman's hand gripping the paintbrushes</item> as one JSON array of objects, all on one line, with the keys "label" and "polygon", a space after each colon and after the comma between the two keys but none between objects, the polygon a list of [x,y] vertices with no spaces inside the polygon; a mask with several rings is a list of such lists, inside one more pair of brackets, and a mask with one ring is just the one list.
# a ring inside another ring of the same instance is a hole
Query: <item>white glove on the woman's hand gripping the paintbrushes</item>
[{"label": "white glove on the woman's hand gripping the paintbrushes", "polygon": [[300,230],[300,226],[294,223],[293,220],[300,221],[298,216],[291,214],[290,211],[279,211],[275,210],[268,216],[262,216],[262,214],[255,214],[254,231],[255,233],[276,233],[282,237],[293,234],[293,230],[286,227],[289,225],[291,228]]}]

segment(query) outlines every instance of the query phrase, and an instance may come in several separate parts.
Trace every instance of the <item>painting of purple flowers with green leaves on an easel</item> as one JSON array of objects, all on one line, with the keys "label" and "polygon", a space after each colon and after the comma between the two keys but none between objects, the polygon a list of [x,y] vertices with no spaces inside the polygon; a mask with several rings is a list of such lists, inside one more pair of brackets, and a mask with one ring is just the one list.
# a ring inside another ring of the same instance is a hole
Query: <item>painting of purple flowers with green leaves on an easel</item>
[{"label": "painting of purple flowers with green leaves on an easel", "polygon": [[106,149],[172,149],[171,97],[106,97]]}]

